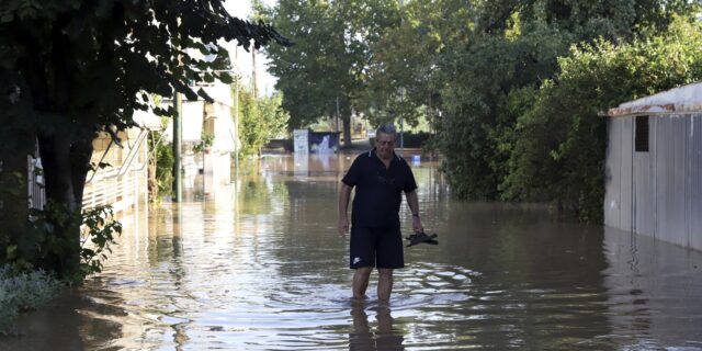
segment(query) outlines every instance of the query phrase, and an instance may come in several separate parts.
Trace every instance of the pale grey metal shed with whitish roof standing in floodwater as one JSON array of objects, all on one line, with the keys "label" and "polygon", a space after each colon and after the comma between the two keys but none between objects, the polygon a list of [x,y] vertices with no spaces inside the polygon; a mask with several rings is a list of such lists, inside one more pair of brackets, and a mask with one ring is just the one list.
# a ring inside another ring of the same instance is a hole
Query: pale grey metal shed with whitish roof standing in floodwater
[{"label": "pale grey metal shed with whitish roof standing in floodwater", "polygon": [[702,250],[702,82],[608,115],[604,225]]}]

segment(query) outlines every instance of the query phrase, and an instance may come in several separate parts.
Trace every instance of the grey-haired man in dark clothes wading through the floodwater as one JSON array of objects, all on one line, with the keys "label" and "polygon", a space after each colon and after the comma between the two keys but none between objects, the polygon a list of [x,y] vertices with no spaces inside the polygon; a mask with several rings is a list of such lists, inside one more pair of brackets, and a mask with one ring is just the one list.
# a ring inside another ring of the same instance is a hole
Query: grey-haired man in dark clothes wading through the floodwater
[{"label": "grey-haired man in dark clothes wading through the floodwater", "polygon": [[422,233],[417,201],[417,183],[409,165],[395,155],[395,126],[386,124],[375,133],[375,148],[359,155],[341,180],[339,192],[339,235],[349,231],[347,210],[351,189],[355,186],[351,212],[350,267],[353,297],[365,298],[373,267],[380,274],[377,298],[389,301],[393,270],[405,267],[399,206],[405,192],[412,213],[415,233]]}]

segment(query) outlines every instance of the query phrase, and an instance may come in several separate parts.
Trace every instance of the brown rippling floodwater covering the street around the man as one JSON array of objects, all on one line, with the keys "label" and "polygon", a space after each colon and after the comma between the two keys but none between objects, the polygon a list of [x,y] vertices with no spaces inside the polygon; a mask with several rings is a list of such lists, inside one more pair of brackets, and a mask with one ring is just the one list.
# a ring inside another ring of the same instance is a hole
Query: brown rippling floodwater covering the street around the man
[{"label": "brown rippling floodwater covering the street around the man", "polygon": [[[424,228],[389,306],[352,303],[337,193],[352,156],[268,156],[212,194],[123,219],[76,294],[0,350],[702,350],[702,252],[455,202],[414,166]],[[423,161],[423,160],[422,160]],[[403,228],[411,218],[403,203]]]}]

